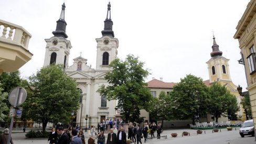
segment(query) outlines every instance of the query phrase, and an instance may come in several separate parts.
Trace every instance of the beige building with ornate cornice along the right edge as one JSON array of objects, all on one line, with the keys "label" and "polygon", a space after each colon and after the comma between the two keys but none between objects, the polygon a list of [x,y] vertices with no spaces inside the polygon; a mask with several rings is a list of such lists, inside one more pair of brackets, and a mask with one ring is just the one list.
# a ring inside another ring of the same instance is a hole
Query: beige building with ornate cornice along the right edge
[{"label": "beige building with ornate cornice along the right edge", "polygon": [[238,39],[241,50],[241,63],[244,65],[247,89],[250,95],[252,117],[256,128],[256,1],[251,0],[237,25],[234,39]]}]

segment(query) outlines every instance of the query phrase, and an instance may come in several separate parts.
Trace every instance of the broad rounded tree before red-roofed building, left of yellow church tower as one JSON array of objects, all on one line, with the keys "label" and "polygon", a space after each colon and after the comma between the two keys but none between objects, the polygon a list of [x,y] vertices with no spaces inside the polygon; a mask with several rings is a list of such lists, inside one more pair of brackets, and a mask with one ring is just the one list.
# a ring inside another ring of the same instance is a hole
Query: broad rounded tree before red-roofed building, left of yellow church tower
[{"label": "broad rounded tree before red-roofed building, left of yellow church tower", "polygon": [[209,92],[202,79],[193,75],[187,75],[180,79],[170,93],[173,102],[173,110],[177,119],[195,119],[206,115],[209,103]]}]

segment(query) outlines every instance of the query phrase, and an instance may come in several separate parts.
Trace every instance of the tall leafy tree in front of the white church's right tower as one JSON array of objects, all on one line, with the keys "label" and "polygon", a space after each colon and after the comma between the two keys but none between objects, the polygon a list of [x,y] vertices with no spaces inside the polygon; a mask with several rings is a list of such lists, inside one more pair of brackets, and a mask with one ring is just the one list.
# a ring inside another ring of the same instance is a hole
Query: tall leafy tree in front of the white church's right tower
[{"label": "tall leafy tree in front of the white church's right tower", "polygon": [[118,100],[115,109],[121,110],[125,122],[140,122],[140,110],[147,111],[152,106],[153,97],[144,81],[149,73],[143,65],[133,55],[127,55],[124,62],[115,59],[110,64],[113,70],[104,77],[110,85],[102,85],[97,90],[101,95],[107,95],[108,100]]}]

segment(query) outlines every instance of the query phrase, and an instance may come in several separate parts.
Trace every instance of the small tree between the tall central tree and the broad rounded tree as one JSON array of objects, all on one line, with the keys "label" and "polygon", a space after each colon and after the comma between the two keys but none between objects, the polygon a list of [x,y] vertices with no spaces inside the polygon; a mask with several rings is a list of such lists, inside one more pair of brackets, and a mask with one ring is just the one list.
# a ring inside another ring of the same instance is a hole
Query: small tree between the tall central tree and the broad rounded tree
[{"label": "small tree between the tall central tree and the broad rounded tree", "polygon": [[155,98],[153,105],[153,110],[150,112],[151,118],[162,121],[162,126],[164,121],[169,121],[173,119],[172,114],[172,100],[169,94],[165,94],[164,91],[161,91],[158,99]]}]

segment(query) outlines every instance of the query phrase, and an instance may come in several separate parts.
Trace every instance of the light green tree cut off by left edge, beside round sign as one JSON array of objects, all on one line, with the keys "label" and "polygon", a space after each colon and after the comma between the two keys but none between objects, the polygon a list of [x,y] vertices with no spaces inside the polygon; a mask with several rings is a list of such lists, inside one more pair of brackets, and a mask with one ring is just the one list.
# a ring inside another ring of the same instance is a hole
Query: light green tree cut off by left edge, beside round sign
[{"label": "light green tree cut off by left edge, beside round sign", "polygon": [[8,113],[9,113],[8,106],[5,103],[6,99],[8,99],[8,93],[2,92],[2,91],[3,91],[3,88],[1,88],[1,83],[0,83],[0,122],[4,122],[5,119],[8,118]]}]

